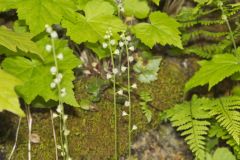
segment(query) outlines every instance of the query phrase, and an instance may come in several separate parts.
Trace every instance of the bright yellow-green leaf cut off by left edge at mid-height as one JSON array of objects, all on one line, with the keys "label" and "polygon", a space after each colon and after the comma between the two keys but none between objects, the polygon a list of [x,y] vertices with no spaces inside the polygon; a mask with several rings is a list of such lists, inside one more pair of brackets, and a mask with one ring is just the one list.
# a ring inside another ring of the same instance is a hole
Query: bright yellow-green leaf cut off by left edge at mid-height
[{"label": "bright yellow-green leaf cut off by left edge at mid-height", "polygon": [[15,86],[21,83],[21,80],[0,69],[0,112],[7,110],[19,116],[25,115],[14,90]]}]

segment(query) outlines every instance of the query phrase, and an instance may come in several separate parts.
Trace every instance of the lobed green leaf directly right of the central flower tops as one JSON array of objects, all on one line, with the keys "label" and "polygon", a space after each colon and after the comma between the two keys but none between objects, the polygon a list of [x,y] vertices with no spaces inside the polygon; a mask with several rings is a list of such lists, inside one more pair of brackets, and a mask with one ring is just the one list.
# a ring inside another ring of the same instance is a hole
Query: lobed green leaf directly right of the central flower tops
[{"label": "lobed green leaf directly right of the central flower tops", "polygon": [[157,43],[182,48],[180,24],[175,19],[161,12],[151,13],[149,19],[151,23],[139,23],[132,28],[137,38],[151,48]]}]

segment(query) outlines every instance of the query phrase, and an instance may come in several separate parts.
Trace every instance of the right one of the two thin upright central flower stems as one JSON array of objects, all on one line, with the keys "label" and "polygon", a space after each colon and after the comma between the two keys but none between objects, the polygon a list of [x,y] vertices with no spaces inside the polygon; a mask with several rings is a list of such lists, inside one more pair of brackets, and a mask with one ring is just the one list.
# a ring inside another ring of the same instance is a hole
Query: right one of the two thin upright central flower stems
[{"label": "right one of the two thin upright central flower stems", "polygon": [[131,156],[131,145],[132,145],[132,104],[131,104],[131,80],[130,80],[130,62],[129,62],[129,51],[128,45],[125,44],[126,54],[127,54],[127,74],[128,74],[128,156]]}]

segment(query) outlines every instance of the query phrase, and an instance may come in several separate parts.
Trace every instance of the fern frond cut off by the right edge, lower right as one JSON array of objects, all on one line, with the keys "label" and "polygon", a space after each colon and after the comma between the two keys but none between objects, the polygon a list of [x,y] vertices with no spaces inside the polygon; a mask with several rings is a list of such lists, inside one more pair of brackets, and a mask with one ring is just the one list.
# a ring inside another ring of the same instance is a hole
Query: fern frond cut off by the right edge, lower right
[{"label": "fern frond cut off by the right edge, lower right", "polygon": [[240,144],[240,97],[223,97],[211,101],[209,114],[214,116],[217,122],[224,127]]}]

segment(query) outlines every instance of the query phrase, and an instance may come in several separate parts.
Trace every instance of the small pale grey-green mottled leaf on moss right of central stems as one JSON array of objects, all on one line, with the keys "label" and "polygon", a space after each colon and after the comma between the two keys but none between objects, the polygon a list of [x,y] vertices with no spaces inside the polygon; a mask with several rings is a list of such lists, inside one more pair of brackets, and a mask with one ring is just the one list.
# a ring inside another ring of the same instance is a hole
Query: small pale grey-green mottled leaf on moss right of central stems
[{"label": "small pale grey-green mottled leaf on moss right of central stems", "polygon": [[146,63],[142,59],[139,59],[133,66],[133,70],[138,74],[138,80],[142,83],[150,83],[157,80],[157,72],[161,61],[162,58],[155,58],[148,60]]}]

